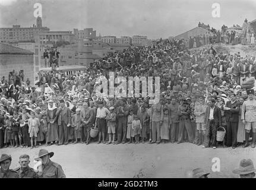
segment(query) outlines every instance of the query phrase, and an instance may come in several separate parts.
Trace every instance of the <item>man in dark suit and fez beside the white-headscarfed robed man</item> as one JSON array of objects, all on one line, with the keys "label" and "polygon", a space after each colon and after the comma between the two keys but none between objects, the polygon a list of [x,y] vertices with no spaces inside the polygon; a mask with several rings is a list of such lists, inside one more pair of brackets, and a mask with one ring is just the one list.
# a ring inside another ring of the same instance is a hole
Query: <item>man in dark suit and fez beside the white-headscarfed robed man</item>
[{"label": "man in dark suit and fez beside the white-headscarfed robed man", "polygon": [[71,113],[68,107],[65,106],[64,100],[59,100],[61,110],[59,111],[59,145],[68,144],[68,127],[71,124]]}]

